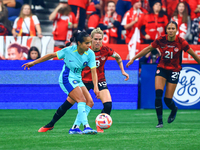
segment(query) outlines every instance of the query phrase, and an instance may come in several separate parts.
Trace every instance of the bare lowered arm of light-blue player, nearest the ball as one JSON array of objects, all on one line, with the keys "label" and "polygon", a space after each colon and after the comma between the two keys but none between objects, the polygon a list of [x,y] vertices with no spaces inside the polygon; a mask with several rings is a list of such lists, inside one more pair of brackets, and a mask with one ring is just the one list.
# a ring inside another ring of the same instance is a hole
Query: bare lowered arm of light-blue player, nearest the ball
[{"label": "bare lowered arm of light-blue player, nearest the ball", "polygon": [[99,98],[99,88],[98,88],[98,77],[97,77],[97,70],[95,68],[91,68],[91,75],[92,75],[92,82],[94,84],[94,93],[96,95],[96,98]]}]

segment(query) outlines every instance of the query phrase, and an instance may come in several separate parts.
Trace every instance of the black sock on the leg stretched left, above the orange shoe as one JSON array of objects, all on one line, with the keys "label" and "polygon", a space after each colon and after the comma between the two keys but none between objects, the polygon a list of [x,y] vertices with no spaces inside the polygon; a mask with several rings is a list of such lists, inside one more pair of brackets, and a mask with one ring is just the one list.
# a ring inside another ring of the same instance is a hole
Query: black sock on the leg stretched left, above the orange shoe
[{"label": "black sock on the leg stretched left, above the orange shoe", "polygon": [[53,116],[51,122],[49,122],[45,127],[53,127],[54,124],[70,109],[73,105],[67,100],[57,109],[56,113]]}]

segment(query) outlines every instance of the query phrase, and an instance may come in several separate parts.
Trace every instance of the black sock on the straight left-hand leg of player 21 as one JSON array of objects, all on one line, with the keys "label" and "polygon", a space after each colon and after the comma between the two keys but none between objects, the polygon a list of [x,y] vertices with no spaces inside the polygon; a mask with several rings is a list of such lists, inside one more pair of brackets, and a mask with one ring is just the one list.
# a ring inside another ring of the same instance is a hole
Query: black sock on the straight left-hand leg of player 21
[{"label": "black sock on the straight left-hand leg of player 21", "polygon": [[155,99],[155,108],[156,108],[156,114],[158,118],[159,124],[162,124],[162,114],[163,114],[163,105],[162,105],[162,95],[163,90],[156,90],[156,99]]}]

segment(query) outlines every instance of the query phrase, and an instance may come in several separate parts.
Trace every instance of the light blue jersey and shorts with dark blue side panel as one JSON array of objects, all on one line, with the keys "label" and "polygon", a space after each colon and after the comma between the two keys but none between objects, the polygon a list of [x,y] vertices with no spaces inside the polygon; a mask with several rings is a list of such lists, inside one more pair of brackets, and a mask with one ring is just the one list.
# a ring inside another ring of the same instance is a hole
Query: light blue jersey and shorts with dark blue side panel
[{"label": "light blue jersey and shorts with dark blue side panel", "polygon": [[[60,73],[59,83],[68,85],[70,83],[73,88],[82,82],[81,72],[83,68],[89,66],[91,69],[96,67],[95,54],[91,49],[80,55],[77,45],[63,48],[57,53],[58,59],[64,59],[62,72]],[[67,90],[69,92],[69,90]]]}]

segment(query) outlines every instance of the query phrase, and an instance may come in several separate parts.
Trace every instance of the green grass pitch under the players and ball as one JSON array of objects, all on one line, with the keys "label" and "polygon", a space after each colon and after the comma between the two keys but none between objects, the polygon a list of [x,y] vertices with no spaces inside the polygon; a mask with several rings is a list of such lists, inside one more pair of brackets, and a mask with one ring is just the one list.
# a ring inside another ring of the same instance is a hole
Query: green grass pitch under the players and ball
[{"label": "green grass pitch under the players and ball", "polygon": [[[100,110],[92,110],[89,123],[95,128]],[[69,135],[76,110],[69,110],[52,131],[38,133],[55,110],[0,110],[0,149],[12,150],[199,150],[200,110],[179,110],[168,124],[169,110],[164,110],[164,127],[155,128],[155,110],[113,110],[110,129],[97,135]],[[82,128],[81,128],[82,129]]]}]

